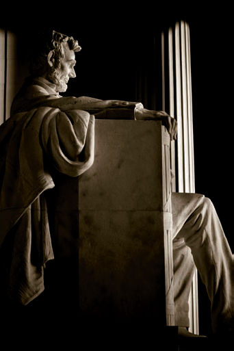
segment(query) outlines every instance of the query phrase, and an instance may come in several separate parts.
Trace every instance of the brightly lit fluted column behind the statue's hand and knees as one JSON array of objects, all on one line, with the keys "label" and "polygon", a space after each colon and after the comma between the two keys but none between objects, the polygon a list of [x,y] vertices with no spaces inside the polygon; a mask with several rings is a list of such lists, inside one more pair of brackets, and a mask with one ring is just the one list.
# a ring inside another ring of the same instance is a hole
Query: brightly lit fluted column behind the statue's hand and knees
[{"label": "brightly lit fluted column behind the statue's hand and knees", "polygon": [[[171,142],[172,191],[195,192],[190,27],[184,21],[161,33],[162,107],[177,118]],[[198,333],[197,273],[190,294],[190,330]]]}]

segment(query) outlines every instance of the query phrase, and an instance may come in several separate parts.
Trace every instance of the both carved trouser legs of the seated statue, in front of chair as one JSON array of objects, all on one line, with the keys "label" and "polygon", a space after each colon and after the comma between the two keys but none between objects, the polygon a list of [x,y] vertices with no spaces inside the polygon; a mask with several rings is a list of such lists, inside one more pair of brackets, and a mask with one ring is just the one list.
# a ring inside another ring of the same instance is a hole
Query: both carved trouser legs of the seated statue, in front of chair
[{"label": "both carved trouser legs of the seated statue, in front of chair", "polygon": [[[196,194],[176,194],[172,196],[172,211],[174,237],[183,238],[185,245],[192,251],[196,268],[211,301],[212,328],[216,332],[220,325],[228,324],[233,317],[231,314],[231,249],[216,210],[208,198]],[[174,240],[175,247],[176,242],[177,240]],[[175,304],[176,313],[178,313],[183,309],[182,305],[184,311],[187,311],[187,291],[191,287],[192,263],[188,264],[191,262],[191,257],[183,245],[181,245],[181,255],[179,255],[179,248],[174,249],[174,260]],[[183,289],[178,281],[183,281]],[[178,323],[179,319],[180,314],[176,316]]]}]

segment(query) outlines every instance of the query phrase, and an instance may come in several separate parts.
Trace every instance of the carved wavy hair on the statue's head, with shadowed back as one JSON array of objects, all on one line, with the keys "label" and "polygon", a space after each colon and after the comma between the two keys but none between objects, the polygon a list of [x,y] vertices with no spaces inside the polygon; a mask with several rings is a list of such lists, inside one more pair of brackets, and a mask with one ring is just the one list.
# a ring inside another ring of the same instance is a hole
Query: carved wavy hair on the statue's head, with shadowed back
[{"label": "carved wavy hair on the statue's head, with shadowed back", "polygon": [[[40,77],[44,73],[53,75],[60,68],[60,60],[64,57],[62,42],[67,42],[70,50],[81,51],[77,40],[72,36],[65,36],[57,31],[47,31],[38,34],[31,51],[29,73],[33,77]],[[49,68],[47,56],[52,52],[51,59],[54,60],[52,68]]]}]

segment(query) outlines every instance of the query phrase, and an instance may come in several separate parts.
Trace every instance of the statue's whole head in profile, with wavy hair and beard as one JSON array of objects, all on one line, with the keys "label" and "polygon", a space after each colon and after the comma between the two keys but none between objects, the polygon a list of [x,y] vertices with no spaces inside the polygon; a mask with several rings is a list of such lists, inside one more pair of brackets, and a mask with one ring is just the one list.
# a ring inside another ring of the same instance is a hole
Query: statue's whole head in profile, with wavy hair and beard
[{"label": "statue's whole head in profile, with wavy hair and beard", "polygon": [[29,72],[32,77],[44,77],[65,92],[70,78],[75,78],[75,52],[81,51],[73,37],[47,31],[38,35],[31,53]]}]

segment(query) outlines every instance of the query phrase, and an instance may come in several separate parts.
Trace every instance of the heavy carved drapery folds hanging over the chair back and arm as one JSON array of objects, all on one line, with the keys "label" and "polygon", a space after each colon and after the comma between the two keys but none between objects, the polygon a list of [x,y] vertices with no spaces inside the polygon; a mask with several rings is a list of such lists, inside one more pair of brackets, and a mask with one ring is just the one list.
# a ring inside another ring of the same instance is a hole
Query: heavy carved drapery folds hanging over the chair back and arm
[{"label": "heavy carved drapery folds hanging over the chair back and arm", "polygon": [[10,298],[27,304],[43,291],[43,267],[53,259],[44,198],[54,187],[49,169],[77,177],[92,166],[94,116],[51,107],[15,114],[0,127],[0,146],[0,252],[8,264],[0,260]]}]

